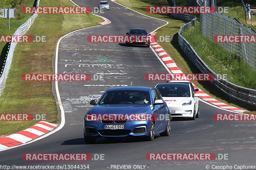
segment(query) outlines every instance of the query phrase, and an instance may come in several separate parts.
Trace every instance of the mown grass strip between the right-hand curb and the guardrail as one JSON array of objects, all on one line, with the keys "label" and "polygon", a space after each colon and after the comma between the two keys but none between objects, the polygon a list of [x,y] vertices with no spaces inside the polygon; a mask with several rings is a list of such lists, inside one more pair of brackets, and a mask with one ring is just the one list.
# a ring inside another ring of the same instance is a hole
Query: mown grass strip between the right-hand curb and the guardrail
[{"label": "mown grass strip between the right-hand curb and the guardrail", "polygon": [[[156,36],[170,35],[172,37],[172,41],[171,43],[170,42],[158,42],[158,43],[172,57],[172,59],[175,61],[175,63],[180,68],[180,70],[182,70],[183,73],[200,73],[200,71],[188,59],[186,54],[181,50],[178,43],[178,31],[180,30],[180,26],[185,23],[182,21],[176,20],[167,14],[148,14],[145,10],[148,6],[169,6],[166,0],[159,0],[159,1],[117,0],[116,2],[122,5],[125,5],[142,14],[168,21],[169,22],[168,25],[165,25],[164,27],[157,30]],[[181,5],[177,4],[177,6],[181,6]],[[220,102],[227,103],[229,105],[232,105],[234,107],[241,108],[244,110],[252,111],[249,113],[256,113],[254,106],[238,102],[228,96],[223,95],[222,92],[213,88],[213,86],[207,81],[193,81],[193,83],[197,87],[202,89],[205,93],[219,100]]]}]

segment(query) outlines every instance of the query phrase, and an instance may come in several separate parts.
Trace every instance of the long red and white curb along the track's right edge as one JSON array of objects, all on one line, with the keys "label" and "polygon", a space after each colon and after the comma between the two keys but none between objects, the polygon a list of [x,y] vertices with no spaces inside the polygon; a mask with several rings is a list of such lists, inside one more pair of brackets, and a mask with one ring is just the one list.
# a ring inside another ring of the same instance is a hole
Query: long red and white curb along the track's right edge
[{"label": "long red and white curb along the track's right edge", "polygon": [[[151,47],[155,50],[155,52],[157,53],[157,55],[161,58],[161,60],[164,62],[164,64],[166,65],[166,67],[168,67],[168,69],[172,72],[172,74],[178,74],[178,73],[183,73],[175,64],[175,62],[172,60],[172,58],[164,51],[164,49],[153,39],[154,35],[156,34],[156,32],[151,33],[150,37],[150,45]],[[192,83],[193,84],[193,83]],[[194,88],[198,88],[193,84]],[[199,88],[198,88],[199,89]],[[227,109],[227,110],[232,110],[232,111],[236,111],[236,112],[245,112],[247,110],[243,110],[243,109],[239,109],[233,106],[230,106],[228,104],[225,103],[221,103],[220,101],[212,98],[211,96],[207,95],[206,93],[204,93],[201,89],[199,89],[199,91],[196,92],[196,94],[199,95],[199,98],[201,98],[202,100],[209,102],[213,105],[216,105],[220,108],[223,109]]]}]

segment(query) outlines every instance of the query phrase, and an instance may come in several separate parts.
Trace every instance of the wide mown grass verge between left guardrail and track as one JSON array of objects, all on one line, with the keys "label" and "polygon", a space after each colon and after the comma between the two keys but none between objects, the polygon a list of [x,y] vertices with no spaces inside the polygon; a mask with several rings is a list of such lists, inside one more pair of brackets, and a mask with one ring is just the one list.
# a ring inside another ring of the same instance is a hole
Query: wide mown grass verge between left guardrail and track
[{"label": "wide mown grass verge between left guardrail and track", "polygon": [[[68,0],[41,0],[40,6],[75,6]],[[46,35],[44,43],[18,43],[5,88],[0,96],[0,113],[47,114],[57,123],[58,109],[51,81],[22,81],[22,74],[52,74],[52,58],[58,39],[77,29],[98,25],[103,19],[92,14],[41,14],[26,35]],[[72,24],[71,24],[72,23]],[[23,23],[22,23],[23,24]],[[0,136],[27,129],[38,121],[0,121]]]}]

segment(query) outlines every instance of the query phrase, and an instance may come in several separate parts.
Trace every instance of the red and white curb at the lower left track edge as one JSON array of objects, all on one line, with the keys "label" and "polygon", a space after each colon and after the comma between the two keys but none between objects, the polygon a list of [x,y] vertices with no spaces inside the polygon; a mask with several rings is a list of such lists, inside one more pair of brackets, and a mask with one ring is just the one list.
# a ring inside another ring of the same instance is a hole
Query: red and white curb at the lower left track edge
[{"label": "red and white curb at the lower left track edge", "polygon": [[57,124],[41,121],[38,124],[18,133],[0,138],[0,150],[27,143],[45,133],[52,131]]}]

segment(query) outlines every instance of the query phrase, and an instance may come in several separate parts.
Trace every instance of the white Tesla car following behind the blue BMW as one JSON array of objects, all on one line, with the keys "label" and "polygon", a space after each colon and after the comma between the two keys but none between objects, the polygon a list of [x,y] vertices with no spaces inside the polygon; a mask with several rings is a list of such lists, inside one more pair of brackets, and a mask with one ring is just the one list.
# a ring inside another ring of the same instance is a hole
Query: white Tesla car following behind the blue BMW
[{"label": "white Tesla car following behind the blue BMW", "polygon": [[156,85],[173,117],[199,117],[199,100],[190,81],[167,81]]}]

